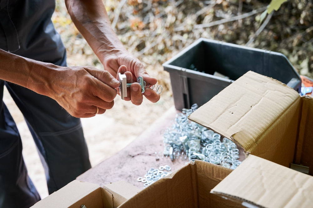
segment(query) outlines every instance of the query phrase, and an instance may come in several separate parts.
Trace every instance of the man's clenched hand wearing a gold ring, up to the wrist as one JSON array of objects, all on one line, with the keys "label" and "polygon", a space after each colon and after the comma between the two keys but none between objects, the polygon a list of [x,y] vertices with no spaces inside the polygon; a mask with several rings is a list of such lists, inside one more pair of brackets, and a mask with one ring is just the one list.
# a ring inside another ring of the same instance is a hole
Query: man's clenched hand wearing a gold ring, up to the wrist
[{"label": "man's clenched hand wearing a gold ring, up to the wrist", "polygon": [[103,114],[114,105],[120,86],[109,72],[94,67],[62,67],[54,72],[49,97],[55,99],[74,117],[88,118]]}]

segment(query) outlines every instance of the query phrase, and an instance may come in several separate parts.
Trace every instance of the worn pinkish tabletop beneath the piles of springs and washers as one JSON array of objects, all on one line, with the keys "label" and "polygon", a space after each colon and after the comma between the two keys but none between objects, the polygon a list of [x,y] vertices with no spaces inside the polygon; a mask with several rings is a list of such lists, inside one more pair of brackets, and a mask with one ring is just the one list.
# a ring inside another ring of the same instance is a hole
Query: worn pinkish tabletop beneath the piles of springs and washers
[{"label": "worn pinkish tabletop beneath the piles of springs and washers", "polygon": [[[76,179],[100,186],[125,180],[143,189],[144,183],[138,182],[137,178],[144,177],[146,171],[150,168],[159,168],[161,165],[169,165],[172,168],[171,171],[178,170],[189,162],[188,159],[182,160],[179,158],[172,162],[169,157],[161,157],[164,150],[161,132],[173,124],[172,120],[175,119],[177,113],[180,113],[180,111],[176,110],[174,106],[171,107],[148,129],[131,142],[131,144],[90,170],[87,170]],[[162,154],[158,161],[156,161],[155,152],[161,152]],[[243,149],[239,148],[239,152],[239,160],[242,161],[244,160]]]}]

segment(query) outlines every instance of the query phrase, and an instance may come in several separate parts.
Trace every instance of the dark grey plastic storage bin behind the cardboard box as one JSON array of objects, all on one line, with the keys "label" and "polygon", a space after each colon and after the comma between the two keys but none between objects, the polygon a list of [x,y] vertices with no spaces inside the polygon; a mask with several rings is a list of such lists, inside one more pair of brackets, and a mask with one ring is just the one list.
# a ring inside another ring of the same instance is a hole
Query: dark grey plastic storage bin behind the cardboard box
[{"label": "dark grey plastic storage bin behind the cardboard box", "polygon": [[[205,38],[192,43],[163,67],[170,73],[178,110],[207,103],[248,71],[277,79],[301,92],[301,78],[283,54]],[[214,76],[214,72],[229,79]]]}]

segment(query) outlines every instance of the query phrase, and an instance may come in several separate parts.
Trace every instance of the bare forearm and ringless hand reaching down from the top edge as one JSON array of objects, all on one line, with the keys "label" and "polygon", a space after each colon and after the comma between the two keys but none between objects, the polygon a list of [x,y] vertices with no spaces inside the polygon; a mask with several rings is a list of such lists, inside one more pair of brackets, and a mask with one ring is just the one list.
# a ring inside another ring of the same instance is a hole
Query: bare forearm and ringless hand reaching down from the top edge
[{"label": "bare forearm and ringless hand reaching down from the top edge", "polygon": [[[117,38],[111,28],[102,0],[65,0],[65,3],[75,26],[98,56],[105,70],[117,77],[118,72],[123,74],[124,72],[121,70],[126,69],[131,73],[126,73],[126,76],[130,77],[130,81],[135,81],[138,76],[142,76],[146,83],[156,84],[157,80],[148,75],[143,64],[129,54]],[[121,67],[123,65],[126,67]],[[142,102],[140,90],[136,91],[136,88],[140,88],[138,85],[132,84],[131,97],[125,98],[136,105]],[[152,89],[146,89],[144,95],[152,102],[160,99],[160,95]]]}]

